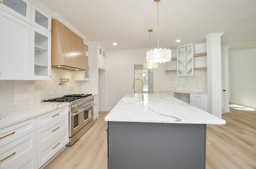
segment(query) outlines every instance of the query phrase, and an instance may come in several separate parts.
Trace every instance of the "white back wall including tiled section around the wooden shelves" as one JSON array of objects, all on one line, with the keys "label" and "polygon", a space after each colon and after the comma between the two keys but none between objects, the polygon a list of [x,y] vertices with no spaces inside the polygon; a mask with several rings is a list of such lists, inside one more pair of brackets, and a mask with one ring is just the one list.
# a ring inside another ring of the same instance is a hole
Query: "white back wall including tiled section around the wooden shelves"
[{"label": "white back wall including tiled section around the wooden shelves", "polygon": [[[206,52],[206,43],[195,45],[198,53]],[[132,83],[134,81],[134,64],[146,62],[148,49],[123,49],[106,51],[106,111],[112,110],[116,103],[126,93],[134,93]],[[172,50],[172,57],[176,57],[176,49]],[[200,58],[200,61],[206,59]],[[200,63],[200,61],[198,63]],[[204,64],[206,60],[203,61]],[[154,70],[154,93],[161,90],[191,90],[207,92],[207,71],[195,71],[194,76],[177,77],[177,73],[166,73],[170,65],[176,61],[158,64],[158,70]],[[201,65],[203,63],[200,63]],[[205,65],[202,67],[206,67]],[[126,83],[128,81],[128,83]]]}]

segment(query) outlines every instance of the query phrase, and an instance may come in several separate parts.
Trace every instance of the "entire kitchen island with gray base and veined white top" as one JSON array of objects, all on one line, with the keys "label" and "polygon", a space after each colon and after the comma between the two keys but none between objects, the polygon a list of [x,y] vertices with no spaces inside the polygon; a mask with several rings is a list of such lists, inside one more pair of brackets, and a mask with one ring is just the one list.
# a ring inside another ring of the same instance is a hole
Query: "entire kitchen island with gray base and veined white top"
[{"label": "entire kitchen island with gray base and veined white top", "polygon": [[225,124],[168,94],[126,94],[106,116],[109,169],[204,169],[206,124]]}]

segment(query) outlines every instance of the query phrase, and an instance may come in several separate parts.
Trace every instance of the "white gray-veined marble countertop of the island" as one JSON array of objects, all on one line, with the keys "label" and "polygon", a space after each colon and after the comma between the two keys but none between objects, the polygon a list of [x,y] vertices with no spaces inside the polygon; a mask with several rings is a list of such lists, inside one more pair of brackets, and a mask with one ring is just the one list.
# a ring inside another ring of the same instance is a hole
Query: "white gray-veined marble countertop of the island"
[{"label": "white gray-veined marble countertop of the island", "polygon": [[[140,97],[142,94],[125,94]],[[105,121],[181,124],[226,124],[225,120],[183,102],[169,94],[144,94],[144,101],[124,102],[123,98],[105,117]]]}]

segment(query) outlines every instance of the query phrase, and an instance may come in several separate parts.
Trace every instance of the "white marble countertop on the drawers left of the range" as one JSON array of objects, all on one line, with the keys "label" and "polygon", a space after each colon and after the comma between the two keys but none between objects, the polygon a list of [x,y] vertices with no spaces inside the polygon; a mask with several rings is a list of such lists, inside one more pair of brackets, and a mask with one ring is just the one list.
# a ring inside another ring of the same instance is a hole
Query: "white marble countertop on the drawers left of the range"
[{"label": "white marble countertop on the drawers left of the range", "polygon": [[0,129],[68,105],[69,103],[49,102],[33,104],[25,108],[0,111]]}]

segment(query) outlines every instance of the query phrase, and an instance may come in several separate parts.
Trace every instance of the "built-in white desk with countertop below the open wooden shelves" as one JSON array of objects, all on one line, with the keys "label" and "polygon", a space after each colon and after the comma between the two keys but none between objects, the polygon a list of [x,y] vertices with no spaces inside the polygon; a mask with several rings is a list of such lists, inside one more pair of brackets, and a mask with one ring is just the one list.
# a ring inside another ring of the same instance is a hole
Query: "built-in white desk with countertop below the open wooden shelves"
[{"label": "built-in white desk with countertop below the open wooden shelves", "polygon": [[186,91],[186,90],[161,90],[163,94],[170,94],[188,104],[200,108],[207,112],[208,94],[207,92]]}]

